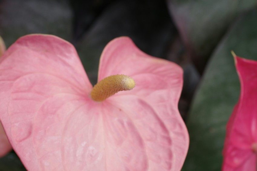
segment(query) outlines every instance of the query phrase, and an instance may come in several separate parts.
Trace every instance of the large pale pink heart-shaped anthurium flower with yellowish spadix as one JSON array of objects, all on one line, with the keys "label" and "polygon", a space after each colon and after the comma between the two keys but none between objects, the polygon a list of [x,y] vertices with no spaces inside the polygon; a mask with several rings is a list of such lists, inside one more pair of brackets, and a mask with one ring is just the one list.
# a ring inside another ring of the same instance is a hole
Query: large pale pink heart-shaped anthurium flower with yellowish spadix
[{"label": "large pale pink heart-shaped anthurium flower with yellowish spadix", "polygon": [[177,109],[182,69],[128,37],[106,46],[98,80],[124,74],[135,80],[124,85],[136,86],[101,102],[75,48],[55,36],[21,37],[0,59],[0,72],[1,121],[28,170],[181,169],[189,144]]}]

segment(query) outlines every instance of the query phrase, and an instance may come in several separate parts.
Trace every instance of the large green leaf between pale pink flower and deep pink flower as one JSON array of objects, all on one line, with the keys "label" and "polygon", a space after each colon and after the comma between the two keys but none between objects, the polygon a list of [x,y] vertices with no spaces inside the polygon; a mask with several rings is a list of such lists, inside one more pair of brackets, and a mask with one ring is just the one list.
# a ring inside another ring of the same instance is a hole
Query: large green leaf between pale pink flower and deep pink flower
[{"label": "large green leaf between pale pink flower and deep pink flower", "polygon": [[256,9],[241,16],[211,56],[187,120],[190,147],[184,171],[221,169],[226,123],[240,92],[230,51],[257,60],[256,18]]}]

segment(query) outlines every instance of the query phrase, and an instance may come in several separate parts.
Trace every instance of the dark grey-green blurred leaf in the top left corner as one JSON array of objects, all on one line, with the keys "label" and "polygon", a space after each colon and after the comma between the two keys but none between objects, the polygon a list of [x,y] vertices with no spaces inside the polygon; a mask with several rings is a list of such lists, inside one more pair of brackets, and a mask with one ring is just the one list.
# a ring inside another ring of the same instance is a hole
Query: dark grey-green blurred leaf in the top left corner
[{"label": "dark grey-green blurred leaf in the top left corner", "polygon": [[54,34],[70,40],[71,10],[67,0],[1,1],[0,35],[6,47],[26,34]]}]

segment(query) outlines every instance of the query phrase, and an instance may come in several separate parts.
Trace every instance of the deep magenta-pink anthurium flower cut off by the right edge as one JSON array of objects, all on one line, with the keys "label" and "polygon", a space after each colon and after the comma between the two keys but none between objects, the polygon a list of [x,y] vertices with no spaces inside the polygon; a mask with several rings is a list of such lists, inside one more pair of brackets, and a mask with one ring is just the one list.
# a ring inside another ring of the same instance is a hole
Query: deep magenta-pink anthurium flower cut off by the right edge
[{"label": "deep magenta-pink anthurium flower cut off by the right edge", "polygon": [[222,170],[254,171],[257,159],[257,61],[235,54],[234,57],[241,94],[227,124]]}]

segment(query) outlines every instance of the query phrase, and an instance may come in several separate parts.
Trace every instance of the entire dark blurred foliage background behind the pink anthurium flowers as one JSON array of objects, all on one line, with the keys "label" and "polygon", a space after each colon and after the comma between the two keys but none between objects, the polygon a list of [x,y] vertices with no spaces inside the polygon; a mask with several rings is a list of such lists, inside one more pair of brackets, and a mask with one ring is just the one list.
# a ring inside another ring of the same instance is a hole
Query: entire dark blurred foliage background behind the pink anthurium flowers
[{"label": "entire dark blurred foliage background behind the pink anthurium flowers", "polygon": [[[240,85],[230,54],[257,60],[257,0],[0,0],[8,48],[32,33],[54,34],[77,49],[92,84],[113,38],[129,36],[145,53],[179,64],[179,110],[190,134],[182,170],[220,170],[226,123]],[[132,68],[133,69],[133,68]],[[0,170],[25,170],[12,151]]]}]

